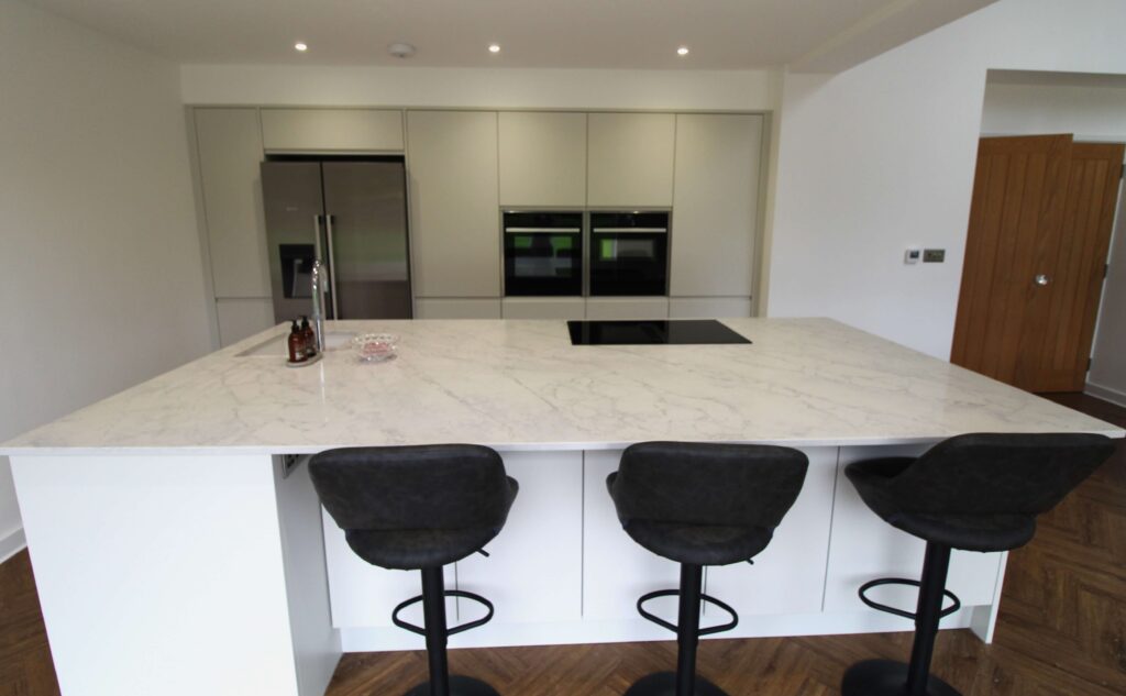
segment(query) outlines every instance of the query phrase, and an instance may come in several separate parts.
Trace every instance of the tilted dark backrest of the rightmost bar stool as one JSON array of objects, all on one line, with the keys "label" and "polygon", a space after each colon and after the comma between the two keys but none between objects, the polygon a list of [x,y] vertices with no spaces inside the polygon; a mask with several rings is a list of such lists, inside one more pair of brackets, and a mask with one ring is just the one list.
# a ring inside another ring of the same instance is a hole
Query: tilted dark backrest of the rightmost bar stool
[{"label": "tilted dark backrest of the rightmost bar stool", "polygon": [[913,512],[1040,515],[1114,452],[1101,435],[959,435],[892,479],[888,493]]}]

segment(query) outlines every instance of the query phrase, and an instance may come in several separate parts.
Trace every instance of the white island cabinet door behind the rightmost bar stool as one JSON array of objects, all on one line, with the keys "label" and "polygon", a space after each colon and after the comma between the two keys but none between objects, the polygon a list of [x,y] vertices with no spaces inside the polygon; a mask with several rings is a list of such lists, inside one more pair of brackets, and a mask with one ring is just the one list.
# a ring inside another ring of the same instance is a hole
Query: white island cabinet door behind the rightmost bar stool
[{"label": "white island cabinet door behind the rightmost bar stool", "polygon": [[[858,459],[888,456],[918,456],[928,446],[842,447],[833,502],[833,544],[829,551],[829,582],[825,585],[825,612],[852,612],[867,607],[857,590],[877,578],[908,578],[922,574],[926,543],[900,532],[881,519],[860,499],[844,475],[844,466]],[[955,551],[946,587],[962,599],[963,606],[993,604],[998,572],[1003,554]],[[918,590],[885,586],[870,597],[906,610],[914,610]],[[904,630],[911,622],[903,619]]]}]

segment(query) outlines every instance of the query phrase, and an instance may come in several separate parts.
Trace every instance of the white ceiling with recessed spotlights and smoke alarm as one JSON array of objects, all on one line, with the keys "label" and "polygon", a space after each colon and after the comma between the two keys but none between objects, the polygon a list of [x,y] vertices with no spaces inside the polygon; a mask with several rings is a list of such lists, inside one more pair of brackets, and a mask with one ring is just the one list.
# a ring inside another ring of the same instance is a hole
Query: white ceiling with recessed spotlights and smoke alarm
[{"label": "white ceiling with recessed spotlights and smoke alarm", "polygon": [[[951,0],[27,0],[179,63],[742,70]],[[985,1],[956,0],[976,9]],[[950,17],[953,19],[953,17]],[[949,19],[946,19],[948,21]],[[306,53],[294,43],[309,44]],[[387,45],[409,42],[409,60]],[[500,53],[486,46],[495,42]],[[678,46],[690,47],[680,57]]]}]

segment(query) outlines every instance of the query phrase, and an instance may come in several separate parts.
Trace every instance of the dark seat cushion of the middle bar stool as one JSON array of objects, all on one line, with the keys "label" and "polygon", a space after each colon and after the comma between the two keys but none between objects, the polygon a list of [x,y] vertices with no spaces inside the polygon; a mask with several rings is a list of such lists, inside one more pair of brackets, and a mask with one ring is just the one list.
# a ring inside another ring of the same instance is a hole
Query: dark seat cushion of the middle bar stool
[{"label": "dark seat cushion of the middle bar stool", "polygon": [[626,534],[659,556],[694,565],[727,565],[756,556],[774,536],[761,527],[718,527],[634,519]]}]

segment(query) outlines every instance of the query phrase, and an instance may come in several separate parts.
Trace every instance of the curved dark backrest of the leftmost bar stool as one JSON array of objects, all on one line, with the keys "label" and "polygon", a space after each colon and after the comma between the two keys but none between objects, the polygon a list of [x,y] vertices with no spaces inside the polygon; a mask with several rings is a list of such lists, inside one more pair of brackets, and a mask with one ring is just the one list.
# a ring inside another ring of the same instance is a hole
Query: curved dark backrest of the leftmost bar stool
[{"label": "curved dark backrest of the leftmost bar stool", "polygon": [[309,473],[342,529],[499,527],[508,514],[504,464],[477,445],[330,449]]}]

